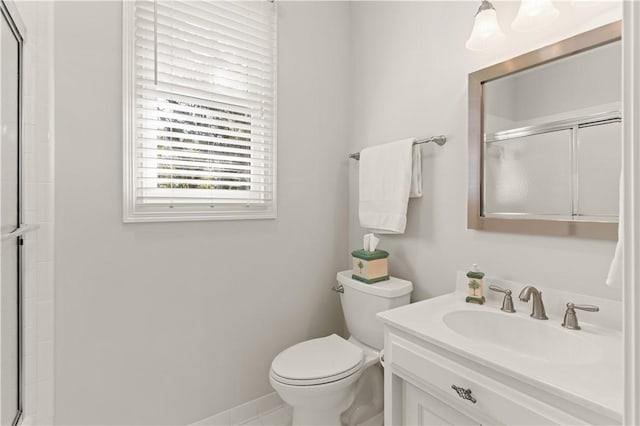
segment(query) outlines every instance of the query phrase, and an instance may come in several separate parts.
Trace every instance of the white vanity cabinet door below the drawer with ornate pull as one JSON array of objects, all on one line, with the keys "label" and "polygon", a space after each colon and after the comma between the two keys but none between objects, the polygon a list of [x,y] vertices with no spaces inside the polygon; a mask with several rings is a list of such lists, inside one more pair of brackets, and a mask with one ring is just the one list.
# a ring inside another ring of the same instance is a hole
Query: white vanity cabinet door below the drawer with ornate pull
[{"label": "white vanity cabinet door below the drawer with ornate pull", "polygon": [[402,408],[405,425],[479,425],[466,414],[452,408],[433,395],[418,389],[411,383],[402,382],[404,406]]}]

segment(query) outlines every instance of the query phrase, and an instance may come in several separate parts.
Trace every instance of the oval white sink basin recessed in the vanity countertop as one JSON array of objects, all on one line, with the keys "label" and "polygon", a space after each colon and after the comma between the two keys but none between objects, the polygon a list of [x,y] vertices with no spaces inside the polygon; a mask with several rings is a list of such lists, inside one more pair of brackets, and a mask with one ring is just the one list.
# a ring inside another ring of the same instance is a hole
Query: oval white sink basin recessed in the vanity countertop
[{"label": "oval white sink basin recessed in the vanity countertop", "polygon": [[442,319],[449,329],[463,337],[537,361],[590,364],[602,358],[602,350],[581,337],[580,332],[565,330],[549,321],[468,310],[448,312]]}]

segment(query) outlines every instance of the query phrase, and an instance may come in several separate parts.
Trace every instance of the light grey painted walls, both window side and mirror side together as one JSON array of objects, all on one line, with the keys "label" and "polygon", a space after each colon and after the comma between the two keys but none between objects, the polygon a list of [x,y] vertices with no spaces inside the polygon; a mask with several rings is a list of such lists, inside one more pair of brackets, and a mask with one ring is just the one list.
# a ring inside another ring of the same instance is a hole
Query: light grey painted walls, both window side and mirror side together
[{"label": "light grey painted walls, both window side and mirror side together", "polygon": [[56,2],[57,423],[184,424],[270,392],[277,352],[342,327],[328,290],[363,233],[346,154],[405,136],[449,138],[422,148],[406,235],[383,238],[414,299],[472,262],[618,299],[612,242],[466,229],[467,74],[617,12],[560,4],[542,37],[507,30],[516,5],[496,2],[507,43],[472,53],[477,6],[279,2],[278,219],[124,225],[120,3]]}]

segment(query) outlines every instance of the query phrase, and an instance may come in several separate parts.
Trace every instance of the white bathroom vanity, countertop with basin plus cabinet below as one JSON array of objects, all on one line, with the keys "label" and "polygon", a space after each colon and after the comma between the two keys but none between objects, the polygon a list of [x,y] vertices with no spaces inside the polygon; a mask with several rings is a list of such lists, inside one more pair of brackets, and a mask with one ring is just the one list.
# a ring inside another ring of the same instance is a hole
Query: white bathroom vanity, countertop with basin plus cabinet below
[{"label": "white bathroom vanity, countertop with basin plus cabinet below", "polygon": [[[549,320],[536,320],[515,296],[515,313],[494,292],[485,305],[465,303],[458,275],[454,293],[378,314],[385,424],[621,424],[619,302],[545,290]],[[567,302],[604,306],[579,312],[582,329],[569,330]]]}]

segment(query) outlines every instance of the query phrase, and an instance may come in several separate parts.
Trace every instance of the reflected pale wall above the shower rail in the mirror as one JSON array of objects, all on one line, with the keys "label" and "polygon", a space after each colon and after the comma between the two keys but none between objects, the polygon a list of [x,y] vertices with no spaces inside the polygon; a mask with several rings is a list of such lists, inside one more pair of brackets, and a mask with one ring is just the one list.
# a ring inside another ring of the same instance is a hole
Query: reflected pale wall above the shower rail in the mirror
[{"label": "reflected pale wall above the shower rail in the mirror", "polygon": [[484,132],[619,113],[621,90],[618,40],[485,82]]}]

